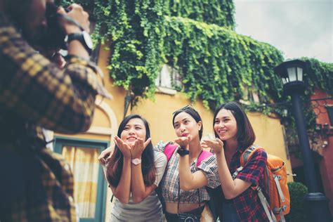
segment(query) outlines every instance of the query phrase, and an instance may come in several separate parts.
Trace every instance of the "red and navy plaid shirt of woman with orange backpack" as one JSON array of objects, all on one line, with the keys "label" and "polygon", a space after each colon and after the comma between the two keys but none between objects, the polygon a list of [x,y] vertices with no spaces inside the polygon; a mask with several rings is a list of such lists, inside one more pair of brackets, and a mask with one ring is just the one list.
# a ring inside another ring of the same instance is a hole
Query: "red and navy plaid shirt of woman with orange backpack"
[{"label": "red and navy plaid shirt of woman with orange backpack", "polygon": [[[240,157],[242,150],[237,150],[230,162],[230,173],[233,174],[238,167],[240,167]],[[263,170],[267,162],[267,153],[262,148],[256,150],[251,159],[237,175],[236,178],[242,181],[251,182],[254,185],[258,185],[263,188],[263,193],[266,194],[263,187]],[[266,195],[267,197],[267,195]],[[269,201],[269,200],[268,200]],[[237,211],[240,221],[268,221],[268,217],[263,209],[263,206],[259,200],[256,190],[248,188],[242,194],[233,199],[233,204]]]}]

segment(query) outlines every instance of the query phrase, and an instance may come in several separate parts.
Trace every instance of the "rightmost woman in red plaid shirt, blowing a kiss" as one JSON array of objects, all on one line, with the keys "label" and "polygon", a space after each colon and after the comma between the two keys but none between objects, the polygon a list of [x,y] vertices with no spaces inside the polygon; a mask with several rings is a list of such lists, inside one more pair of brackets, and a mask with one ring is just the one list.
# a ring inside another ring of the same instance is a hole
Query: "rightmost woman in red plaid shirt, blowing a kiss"
[{"label": "rightmost woman in red plaid shirt, blowing a kiss", "polygon": [[[263,170],[267,154],[256,149],[241,171],[242,153],[253,145],[256,136],[242,107],[235,102],[220,105],[214,113],[215,141],[204,140],[202,147],[211,148],[216,154],[218,175],[223,190],[221,221],[268,221],[268,217],[252,186],[263,186]],[[264,190],[263,190],[264,191]],[[265,192],[263,192],[266,195]],[[267,195],[266,195],[267,198]]]}]

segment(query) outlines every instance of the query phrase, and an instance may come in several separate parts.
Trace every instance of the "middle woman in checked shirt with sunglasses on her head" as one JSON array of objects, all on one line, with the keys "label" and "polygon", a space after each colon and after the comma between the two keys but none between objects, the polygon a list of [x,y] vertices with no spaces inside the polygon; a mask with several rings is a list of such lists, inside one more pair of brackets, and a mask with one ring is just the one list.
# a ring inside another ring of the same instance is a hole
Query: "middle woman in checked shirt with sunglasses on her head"
[{"label": "middle woman in checked shirt with sunglasses on her head", "polygon": [[[204,204],[209,200],[206,186],[216,188],[218,180],[215,155],[197,161],[202,155],[202,119],[190,106],[174,112],[172,124],[178,138],[178,148],[172,153],[161,181],[162,197],[166,208],[166,221],[182,221],[181,214],[189,214],[199,221]],[[155,147],[166,152],[168,143],[160,142]],[[183,218],[185,221],[185,218]]]}]

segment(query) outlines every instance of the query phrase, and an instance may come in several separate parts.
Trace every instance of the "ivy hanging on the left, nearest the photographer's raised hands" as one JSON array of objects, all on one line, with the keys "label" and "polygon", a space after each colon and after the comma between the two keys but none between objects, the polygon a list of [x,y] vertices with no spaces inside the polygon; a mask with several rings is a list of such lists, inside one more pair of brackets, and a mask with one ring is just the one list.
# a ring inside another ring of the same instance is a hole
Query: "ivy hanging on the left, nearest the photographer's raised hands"
[{"label": "ivy hanging on the left, nearest the photographer's raised hands", "polygon": [[[62,1],[67,6],[73,1]],[[110,45],[115,85],[136,96],[152,98],[159,66],[164,62],[164,1],[79,0],[96,22],[93,40]]]}]

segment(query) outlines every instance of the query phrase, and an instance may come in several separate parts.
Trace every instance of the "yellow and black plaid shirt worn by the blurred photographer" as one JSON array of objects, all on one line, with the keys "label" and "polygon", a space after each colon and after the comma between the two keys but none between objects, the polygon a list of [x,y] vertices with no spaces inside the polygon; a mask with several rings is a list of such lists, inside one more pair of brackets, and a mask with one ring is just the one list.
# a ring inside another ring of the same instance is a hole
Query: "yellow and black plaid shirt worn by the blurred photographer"
[{"label": "yellow and black plaid shirt worn by the blurred photographer", "polygon": [[41,127],[89,129],[96,94],[109,96],[98,67],[72,56],[60,70],[2,13],[0,67],[0,221],[77,221],[70,166],[46,150]]}]

